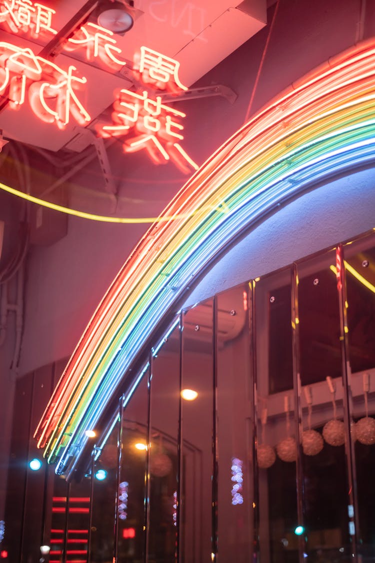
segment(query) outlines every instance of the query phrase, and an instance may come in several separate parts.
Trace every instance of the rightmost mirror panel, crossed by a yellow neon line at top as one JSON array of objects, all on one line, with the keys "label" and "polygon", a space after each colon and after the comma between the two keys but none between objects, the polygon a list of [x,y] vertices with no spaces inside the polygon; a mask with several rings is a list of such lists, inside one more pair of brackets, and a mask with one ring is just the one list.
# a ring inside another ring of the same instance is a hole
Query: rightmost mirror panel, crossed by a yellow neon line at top
[{"label": "rightmost mirror panel, crossed by a yellow neon line at top", "polygon": [[355,422],[359,554],[375,557],[375,247],[373,236],[344,248],[351,395]]}]

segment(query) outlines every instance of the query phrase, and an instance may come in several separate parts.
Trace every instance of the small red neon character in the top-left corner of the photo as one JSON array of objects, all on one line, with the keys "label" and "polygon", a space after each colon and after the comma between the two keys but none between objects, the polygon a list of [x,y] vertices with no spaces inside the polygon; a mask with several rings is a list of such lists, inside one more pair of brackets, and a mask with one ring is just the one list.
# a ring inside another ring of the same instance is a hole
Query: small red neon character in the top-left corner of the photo
[{"label": "small red neon character in the top-left corner of the photo", "polygon": [[31,0],[3,0],[0,2],[0,23],[5,22],[12,33],[30,31],[33,37],[42,32],[56,34],[52,28],[55,10]]}]

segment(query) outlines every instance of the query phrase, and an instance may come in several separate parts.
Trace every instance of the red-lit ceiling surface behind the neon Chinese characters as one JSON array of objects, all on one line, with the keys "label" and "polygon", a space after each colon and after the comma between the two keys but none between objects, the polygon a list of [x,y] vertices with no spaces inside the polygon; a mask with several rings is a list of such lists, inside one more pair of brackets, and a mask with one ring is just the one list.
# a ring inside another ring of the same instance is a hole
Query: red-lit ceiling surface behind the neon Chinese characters
[{"label": "red-lit ceiling surface behind the neon Chinese characters", "polygon": [[[137,84],[138,88],[142,87],[133,73],[134,55],[141,46],[177,60],[179,79],[190,87],[266,23],[266,0],[134,0],[133,6],[122,0],[123,8],[129,10],[134,19],[129,32],[113,35],[120,49],[117,56],[125,65],[110,68],[99,57],[88,62],[86,47],[82,46],[67,52],[64,47],[67,38],[87,21],[97,23],[94,16],[102,7],[111,7],[111,2],[46,0],[45,6],[56,12],[51,19],[56,35],[45,32],[43,36],[30,38],[28,30],[14,34],[7,21],[0,21],[0,42],[28,47],[62,69],[74,65],[77,76],[87,79],[78,97],[90,115],[84,127],[93,131],[98,122],[103,121],[103,112],[111,108],[116,91],[135,90]],[[4,0],[0,0],[0,12],[5,10],[4,6]],[[4,65],[3,62],[3,68]],[[55,123],[38,119],[30,110],[27,97],[24,104],[14,110],[8,103],[8,96],[8,90],[4,90],[0,97],[0,128],[4,138],[52,151],[64,148],[80,152],[90,143],[83,126],[77,124],[72,115],[67,126],[59,129]]]}]

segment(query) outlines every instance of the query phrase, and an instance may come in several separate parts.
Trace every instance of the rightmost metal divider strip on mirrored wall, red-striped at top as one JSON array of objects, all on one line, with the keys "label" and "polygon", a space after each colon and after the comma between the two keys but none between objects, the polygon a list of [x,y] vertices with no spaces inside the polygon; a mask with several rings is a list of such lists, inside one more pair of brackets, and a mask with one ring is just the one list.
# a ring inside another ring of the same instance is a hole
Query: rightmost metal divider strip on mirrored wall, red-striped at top
[{"label": "rightmost metal divider strip on mirrored wall, red-striped at top", "polygon": [[[349,535],[352,550],[352,561],[358,561],[357,553],[357,533],[359,530],[358,507],[357,507],[357,480],[355,467],[354,441],[351,437],[352,423],[352,394],[351,394],[351,368],[349,361],[349,342],[347,324],[347,297],[345,280],[345,263],[343,247],[341,244],[336,249],[336,271],[337,289],[340,310],[340,341],[341,341],[341,360],[342,360],[342,385],[343,385],[343,411],[345,424],[345,453],[348,476],[348,516],[349,516]],[[352,507],[351,509],[349,507]]]}]

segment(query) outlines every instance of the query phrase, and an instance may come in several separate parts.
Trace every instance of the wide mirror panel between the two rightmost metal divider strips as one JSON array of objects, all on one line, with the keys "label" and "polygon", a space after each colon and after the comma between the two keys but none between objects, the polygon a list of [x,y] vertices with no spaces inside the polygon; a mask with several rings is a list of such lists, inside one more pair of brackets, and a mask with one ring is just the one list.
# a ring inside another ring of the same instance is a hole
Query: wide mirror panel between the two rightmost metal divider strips
[{"label": "wide mirror panel between the two rightmost metal divider strips", "polygon": [[[297,266],[303,520],[309,560],[351,556],[336,250]],[[336,266],[335,266],[336,267]],[[342,551],[339,551],[342,549]]]}]

